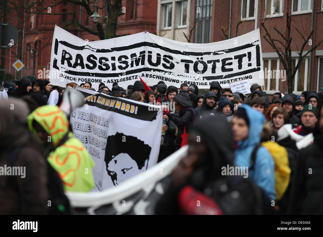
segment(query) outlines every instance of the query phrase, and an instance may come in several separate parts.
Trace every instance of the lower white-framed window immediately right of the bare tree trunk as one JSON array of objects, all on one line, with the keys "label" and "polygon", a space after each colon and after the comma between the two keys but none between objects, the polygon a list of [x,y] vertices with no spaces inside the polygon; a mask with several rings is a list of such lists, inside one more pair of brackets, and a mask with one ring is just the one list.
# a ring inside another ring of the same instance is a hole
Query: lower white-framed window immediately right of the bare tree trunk
[{"label": "lower white-framed window immediately right of the bare tree trunk", "polygon": [[[293,80],[293,93],[300,94],[303,91],[307,90],[307,80],[308,80],[308,62],[309,58],[304,58],[295,74],[295,78]],[[298,58],[292,59],[292,68],[294,70],[295,65],[298,63]]]}]

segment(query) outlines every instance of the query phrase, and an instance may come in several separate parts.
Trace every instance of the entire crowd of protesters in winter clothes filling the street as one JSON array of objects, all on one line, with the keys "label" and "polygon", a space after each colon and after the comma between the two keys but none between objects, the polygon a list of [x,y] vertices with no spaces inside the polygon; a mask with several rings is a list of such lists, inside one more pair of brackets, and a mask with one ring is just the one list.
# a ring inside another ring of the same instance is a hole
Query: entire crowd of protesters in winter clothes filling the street
[{"label": "entire crowd of protesters in winter clothes filling the street", "polygon": [[[59,109],[64,92],[77,86],[166,105],[158,162],[185,144],[189,148],[156,214],[192,213],[178,201],[187,196],[205,200],[205,210],[218,214],[323,214],[323,91],[275,93],[270,101],[258,84],[244,95],[212,82],[199,94],[195,84],[177,88],[162,81],[149,89],[142,81],[127,90],[116,82],[111,90],[90,82],[62,88],[33,75],[0,88],[0,166],[26,166],[33,173],[26,179],[0,175],[1,214],[69,214],[64,191],[93,188],[84,167],[94,162]],[[70,159],[64,168],[57,164],[71,153],[83,167]],[[246,167],[248,175],[226,175],[224,167]]]}]

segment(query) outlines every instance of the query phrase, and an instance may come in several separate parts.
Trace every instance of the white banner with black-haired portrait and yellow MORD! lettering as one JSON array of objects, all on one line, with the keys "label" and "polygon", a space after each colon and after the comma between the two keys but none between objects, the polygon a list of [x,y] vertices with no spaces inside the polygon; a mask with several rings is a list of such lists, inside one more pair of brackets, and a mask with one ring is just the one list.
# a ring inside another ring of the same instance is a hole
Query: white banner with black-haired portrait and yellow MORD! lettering
[{"label": "white banner with black-haired portrait and yellow MORD! lettering", "polygon": [[161,106],[78,90],[86,104],[72,111],[70,124],[95,162],[93,191],[118,185],[157,163]]}]

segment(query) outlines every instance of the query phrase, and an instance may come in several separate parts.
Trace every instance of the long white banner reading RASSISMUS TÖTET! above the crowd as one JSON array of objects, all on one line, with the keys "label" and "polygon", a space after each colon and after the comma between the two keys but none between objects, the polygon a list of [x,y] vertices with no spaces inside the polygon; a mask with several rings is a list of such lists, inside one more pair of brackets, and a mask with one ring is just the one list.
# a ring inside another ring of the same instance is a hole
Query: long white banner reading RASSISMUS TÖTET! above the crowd
[{"label": "long white banner reading RASSISMUS T\u00d6TET! above the crowd", "polygon": [[[55,26],[50,81],[65,87],[89,81],[98,89],[103,82],[127,88],[141,77],[152,86],[196,84],[209,89],[212,81],[223,88],[248,78],[264,85],[259,29],[236,38],[210,43],[184,43],[150,33],[87,42]],[[42,71],[40,70],[42,73]]]}]

